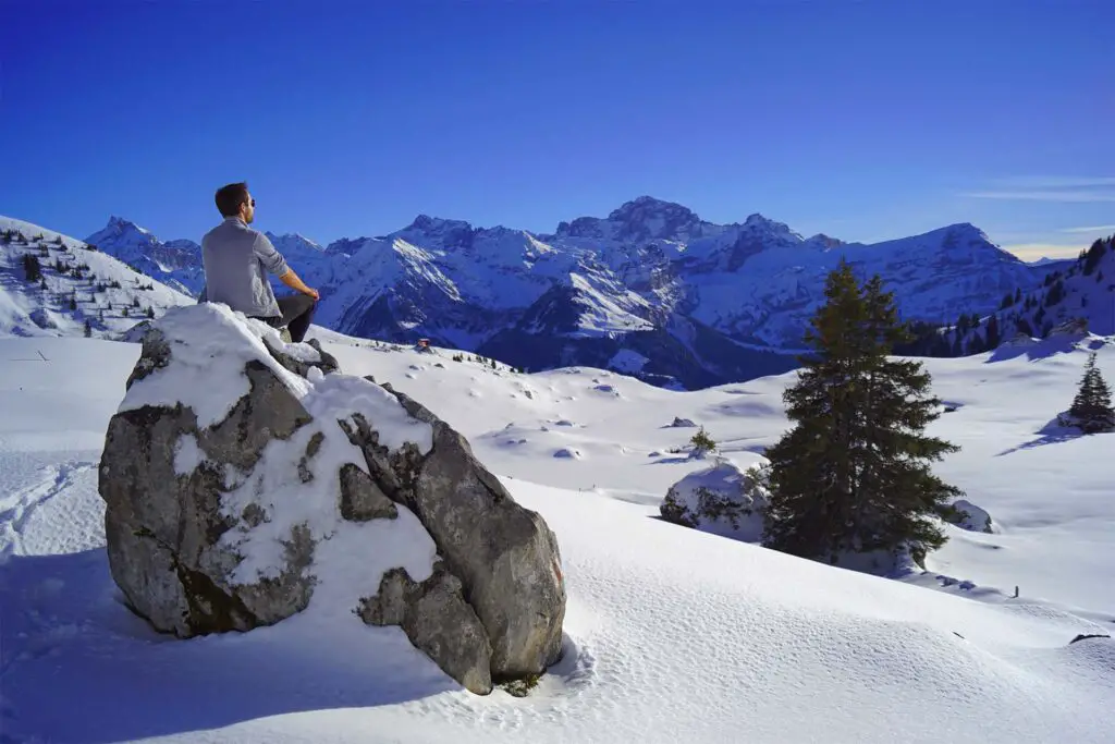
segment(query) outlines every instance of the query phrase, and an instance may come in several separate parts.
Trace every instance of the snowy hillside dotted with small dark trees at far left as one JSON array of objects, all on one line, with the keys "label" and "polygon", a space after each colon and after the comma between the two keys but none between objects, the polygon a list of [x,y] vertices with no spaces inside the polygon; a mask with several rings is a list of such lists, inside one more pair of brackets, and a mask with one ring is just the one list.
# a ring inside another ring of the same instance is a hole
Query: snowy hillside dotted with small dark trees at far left
[{"label": "snowy hillside dotted with small dark trees at far left", "polygon": [[[16,238],[0,241],[0,336],[81,336],[88,321],[93,336],[115,337],[148,310],[157,317],[194,301],[83,241],[0,216],[6,231]],[[39,260],[41,282],[27,281],[26,254]]]}]

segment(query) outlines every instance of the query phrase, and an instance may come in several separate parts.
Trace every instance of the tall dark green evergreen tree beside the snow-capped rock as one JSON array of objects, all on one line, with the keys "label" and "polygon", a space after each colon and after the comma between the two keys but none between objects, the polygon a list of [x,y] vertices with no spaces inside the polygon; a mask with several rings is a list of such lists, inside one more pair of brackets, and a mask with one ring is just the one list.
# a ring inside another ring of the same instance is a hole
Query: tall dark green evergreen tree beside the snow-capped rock
[{"label": "tall dark green evergreen tree beside the snow-capped rock", "polygon": [[783,395],[795,426],[766,453],[766,544],[831,562],[847,551],[938,548],[946,538],[930,518],[960,491],[922,461],[958,447],[922,433],[940,400],[921,364],[888,356],[909,338],[893,293],[878,276],[861,288],[841,262],[825,297],[805,337],[812,354]]}]

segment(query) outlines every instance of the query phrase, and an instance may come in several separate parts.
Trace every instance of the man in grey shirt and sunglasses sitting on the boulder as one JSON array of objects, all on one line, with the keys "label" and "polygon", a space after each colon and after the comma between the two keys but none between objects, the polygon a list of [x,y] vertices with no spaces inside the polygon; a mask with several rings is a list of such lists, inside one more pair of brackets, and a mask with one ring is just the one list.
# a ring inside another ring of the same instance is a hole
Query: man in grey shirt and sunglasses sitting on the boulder
[{"label": "man in grey shirt and sunglasses sitting on the boulder", "polygon": [[[287,265],[266,235],[248,226],[255,219],[255,200],[246,183],[217,189],[216,207],[224,222],[202,239],[205,288],[198,301],[224,302],[273,328],[285,326],[291,340],[300,342],[310,329],[318,290],[307,287]],[[275,299],[268,271],[299,293]]]}]

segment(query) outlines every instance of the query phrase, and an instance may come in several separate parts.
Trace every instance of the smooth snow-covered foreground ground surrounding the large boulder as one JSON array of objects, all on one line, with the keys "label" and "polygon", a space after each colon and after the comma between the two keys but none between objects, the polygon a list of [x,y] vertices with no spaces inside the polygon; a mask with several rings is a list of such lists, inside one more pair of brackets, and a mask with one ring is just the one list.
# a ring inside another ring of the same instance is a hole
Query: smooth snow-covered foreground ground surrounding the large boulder
[{"label": "smooth snow-covered foreground ground surrounding the large boulder", "polygon": [[[138,347],[0,340],[0,725],[51,742],[1108,742],[1115,727],[1115,435],[1039,434],[1087,347],[933,359],[963,448],[940,473],[997,532],[948,528],[927,574],[834,569],[653,519],[702,467],[746,467],[792,376],[673,393],[611,373],[520,375],[314,329],[468,436],[560,541],[565,657],[525,698],[462,690],[396,628],[291,618],[177,641],[119,603],[96,462]],[[22,361],[42,357],[50,361]],[[74,376],[72,369],[97,370]],[[954,581],[959,579],[960,581]],[[911,586],[923,584],[923,586]],[[1010,599],[1014,586],[1018,599]],[[1002,591],[1000,591],[1002,590]],[[59,715],[66,711],[67,715]]]}]

